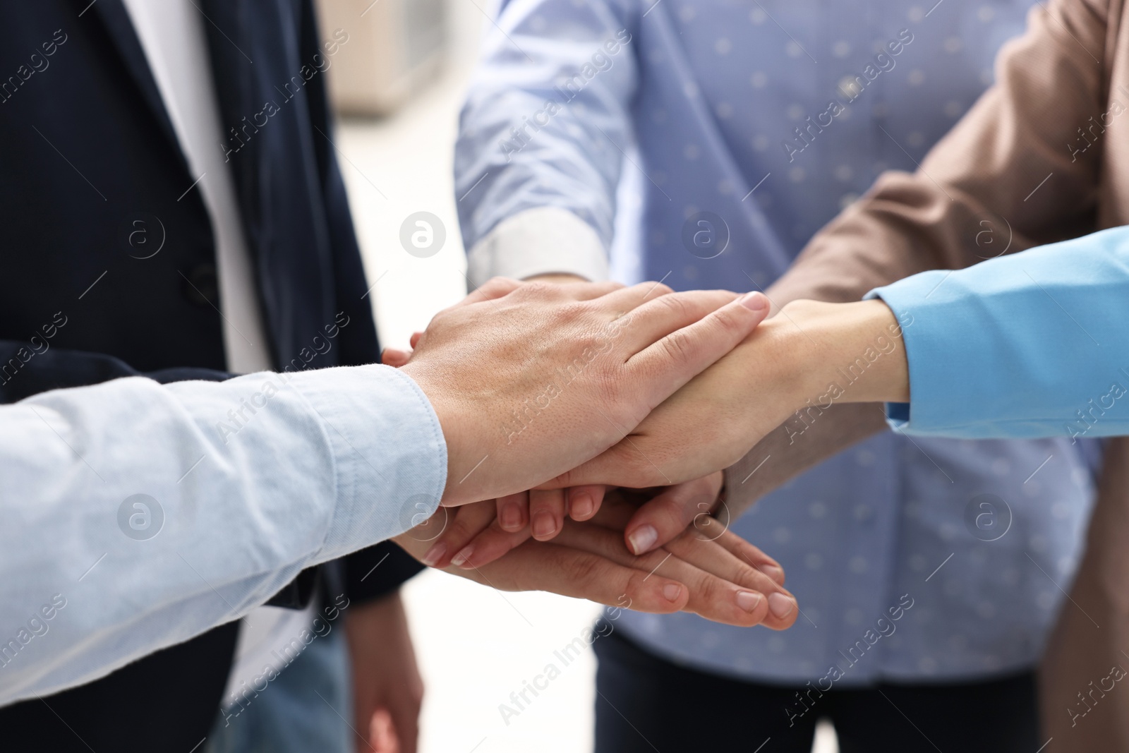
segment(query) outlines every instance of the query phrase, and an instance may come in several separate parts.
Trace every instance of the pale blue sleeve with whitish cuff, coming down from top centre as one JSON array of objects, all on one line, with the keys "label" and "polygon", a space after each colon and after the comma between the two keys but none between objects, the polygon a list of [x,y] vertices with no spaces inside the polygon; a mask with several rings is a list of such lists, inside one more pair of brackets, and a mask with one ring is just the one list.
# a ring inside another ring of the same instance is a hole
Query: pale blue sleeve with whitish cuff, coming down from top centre
[{"label": "pale blue sleeve with whitish cuff, coming down from top centre", "polygon": [[[593,277],[606,265],[616,186],[632,141],[628,108],[638,67],[629,28],[637,9],[614,0],[514,0],[488,33],[455,148],[455,194],[472,282],[531,270]],[[522,260],[476,259],[490,253],[476,246],[496,226],[542,208],[579,218],[603,247],[584,240],[571,254],[534,245],[520,251]],[[551,257],[530,257],[539,253]],[[601,259],[590,259],[596,254]]]}]

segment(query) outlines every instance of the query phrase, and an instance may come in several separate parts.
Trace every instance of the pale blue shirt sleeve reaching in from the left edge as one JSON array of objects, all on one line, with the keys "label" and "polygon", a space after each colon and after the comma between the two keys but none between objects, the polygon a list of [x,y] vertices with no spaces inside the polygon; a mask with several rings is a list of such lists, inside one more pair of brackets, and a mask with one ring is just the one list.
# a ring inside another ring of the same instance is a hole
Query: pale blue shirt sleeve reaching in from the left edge
[{"label": "pale blue shirt sleeve reaching in from the left edge", "polygon": [[0,704],[245,615],[430,515],[446,471],[430,403],[385,366],[0,406]]}]

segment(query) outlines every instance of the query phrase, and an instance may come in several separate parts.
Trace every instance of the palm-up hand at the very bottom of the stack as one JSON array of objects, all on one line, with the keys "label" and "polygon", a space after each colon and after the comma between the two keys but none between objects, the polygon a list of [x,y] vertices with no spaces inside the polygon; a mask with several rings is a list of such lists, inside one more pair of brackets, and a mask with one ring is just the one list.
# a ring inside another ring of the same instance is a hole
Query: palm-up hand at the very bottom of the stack
[{"label": "palm-up hand at the very bottom of the stack", "polygon": [[[623,528],[636,504],[621,492],[607,496],[588,523],[566,522],[551,543],[528,531],[504,534],[505,555],[475,566],[449,564],[450,554],[434,557],[434,542],[447,526],[489,527],[496,508],[489,502],[457,510],[440,509],[436,519],[396,539],[421,561],[502,590],[549,590],[641,612],[694,612],[736,625],[784,629],[795,621],[795,598],[782,588],[784,571],[759,549],[720,527],[692,526],[666,548],[636,557],[623,543]],[[497,554],[493,554],[497,555]],[[773,596],[774,594],[774,596]],[[770,611],[771,607],[771,611]]]}]

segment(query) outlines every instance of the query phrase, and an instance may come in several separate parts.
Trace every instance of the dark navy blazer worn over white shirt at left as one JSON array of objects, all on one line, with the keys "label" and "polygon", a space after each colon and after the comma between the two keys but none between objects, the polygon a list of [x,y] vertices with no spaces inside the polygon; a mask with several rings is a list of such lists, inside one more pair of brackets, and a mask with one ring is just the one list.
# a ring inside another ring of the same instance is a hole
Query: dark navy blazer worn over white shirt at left
[{"label": "dark navy blazer worn over white shirt at left", "polygon": [[[321,69],[333,47],[320,41],[312,0],[194,1],[210,19],[230,137],[216,148],[234,176],[274,367],[377,361],[330,141]],[[128,375],[230,376],[196,177],[121,0],[0,8],[0,402]],[[356,602],[419,566],[390,543],[322,570]],[[300,603],[310,576],[278,602]],[[237,630],[0,709],[3,747],[192,750],[216,718]]]}]

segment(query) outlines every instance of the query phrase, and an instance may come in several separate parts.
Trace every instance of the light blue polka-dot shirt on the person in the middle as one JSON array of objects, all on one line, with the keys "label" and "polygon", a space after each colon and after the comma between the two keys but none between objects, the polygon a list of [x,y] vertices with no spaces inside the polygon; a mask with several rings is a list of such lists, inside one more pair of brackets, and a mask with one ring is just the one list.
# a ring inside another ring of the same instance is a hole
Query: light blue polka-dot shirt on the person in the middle
[{"label": "light blue polka-dot shirt on the person in the middle", "polygon": [[[455,155],[471,279],[611,270],[675,289],[767,287],[881,172],[913,169],[991,82],[1031,6],[511,0]],[[763,682],[802,685],[833,664],[840,686],[1029,668],[1092,493],[1080,443],[886,434],[733,526],[784,563],[794,628],[618,624],[673,660]],[[913,606],[896,631],[848,666],[903,595]]]}]

